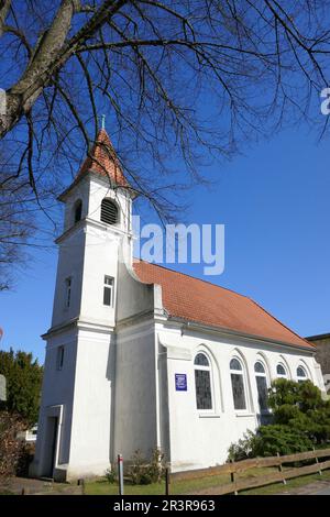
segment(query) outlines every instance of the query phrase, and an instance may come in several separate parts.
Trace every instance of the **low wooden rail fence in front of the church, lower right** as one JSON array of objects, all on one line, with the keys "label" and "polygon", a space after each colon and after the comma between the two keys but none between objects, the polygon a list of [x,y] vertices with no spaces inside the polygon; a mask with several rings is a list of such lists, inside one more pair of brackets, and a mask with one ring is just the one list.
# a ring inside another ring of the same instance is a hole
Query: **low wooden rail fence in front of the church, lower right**
[{"label": "low wooden rail fence in front of the church, lower right", "polygon": [[[220,466],[199,469],[195,471],[176,472],[172,474],[167,471],[166,494],[169,494],[170,492],[170,483],[176,481],[191,481],[223,474],[228,474],[230,476],[230,483],[212,486],[205,491],[199,491],[198,493],[210,495],[238,494],[239,491],[256,488],[258,486],[265,486],[278,482],[286,483],[286,480],[314,474],[316,472],[321,474],[323,470],[330,469],[329,458],[330,449],[318,449],[283,457],[277,454],[276,457],[255,458],[252,460],[231,462]],[[310,464],[305,464],[302,466],[288,466],[289,464],[302,461],[309,462]],[[250,477],[239,477],[240,474],[245,473],[250,469],[256,468],[277,468],[277,472],[271,472],[270,474],[265,474],[263,472],[261,475],[253,474],[253,476]]]}]

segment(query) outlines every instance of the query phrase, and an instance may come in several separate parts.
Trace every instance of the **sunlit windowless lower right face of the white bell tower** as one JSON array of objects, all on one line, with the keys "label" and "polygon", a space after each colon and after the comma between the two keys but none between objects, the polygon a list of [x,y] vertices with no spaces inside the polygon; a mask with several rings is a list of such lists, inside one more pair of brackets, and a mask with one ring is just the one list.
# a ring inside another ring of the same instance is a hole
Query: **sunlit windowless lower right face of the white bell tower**
[{"label": "sunlit windowless lower right face of the white bell tower", "polygon": [[68,477],[110,465],[114,334],[79,330]]}]

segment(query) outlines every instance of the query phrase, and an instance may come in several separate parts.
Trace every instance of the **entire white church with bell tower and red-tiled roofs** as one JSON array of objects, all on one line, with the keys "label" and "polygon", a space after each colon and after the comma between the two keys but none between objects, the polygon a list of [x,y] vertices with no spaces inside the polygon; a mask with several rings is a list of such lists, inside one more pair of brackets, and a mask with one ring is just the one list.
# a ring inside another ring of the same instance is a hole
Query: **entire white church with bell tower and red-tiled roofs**
[{"label": "entire white church with bell tower and red-tiled roofs", "polygon": [[64,231],[31,474],[103,475],[121,453],[173,472],[226,462],[276,377],[323,389],[315,348],[255,301],[132,258],[130,188],[105,129],[61,195]]}]

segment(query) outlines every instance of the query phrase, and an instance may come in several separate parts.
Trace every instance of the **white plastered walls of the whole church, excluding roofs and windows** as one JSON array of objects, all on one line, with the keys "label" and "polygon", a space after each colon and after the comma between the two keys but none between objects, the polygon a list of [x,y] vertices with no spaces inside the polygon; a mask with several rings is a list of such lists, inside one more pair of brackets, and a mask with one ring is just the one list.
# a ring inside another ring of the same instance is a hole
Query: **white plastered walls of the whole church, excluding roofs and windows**
[{"label": "white plastered walls of the whole church, excluding roofs and windows", "polygon": [[[100,221],[103,198],[114,199],[119,222]],[[52,328],[35,459],[31,473],[73,480],[102,475],[118,453],[129,460],[160,448],[173,471],[223,463],[228,448],[258,424],[254,365],[264,365],[267,385],[280,363],[288,378],[297,367],[323,388],[311,349],[224,332],[168,319],[162,287],[141,283],[131,256],[129,190],[109,189],[89,174],[62,198]],[[81,201],[81,219],[75,209]],[[111,306],[103,304],[105,276],[113,279]],[[68,282],[69,280],[69,282]],[[69,298],[69,302],[68,302]],[[209,360],[212,408],[196,406],[198,352]],[[246,409],[235,410],[230,361],[242,365]],[[177,391],[175,375],[186,376]]]}]

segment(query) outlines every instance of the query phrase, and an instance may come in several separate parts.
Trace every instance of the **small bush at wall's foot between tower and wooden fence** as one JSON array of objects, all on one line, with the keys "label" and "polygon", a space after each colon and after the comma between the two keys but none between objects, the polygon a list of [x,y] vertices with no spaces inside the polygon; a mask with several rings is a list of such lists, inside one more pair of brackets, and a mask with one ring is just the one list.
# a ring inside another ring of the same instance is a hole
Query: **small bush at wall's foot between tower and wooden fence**
[{"label": "small bush at wall's foot between tower and wooden fence", "polygon": [[160,482],[164,472],[164,454],[158,449],[152,451],[148,462],[140,450],[135,451],[128,470],[133,485],[148,485]]}]

